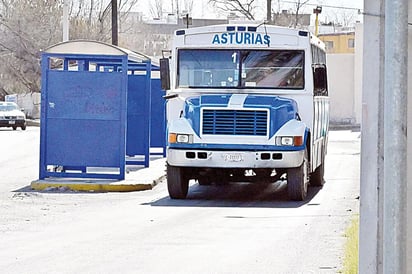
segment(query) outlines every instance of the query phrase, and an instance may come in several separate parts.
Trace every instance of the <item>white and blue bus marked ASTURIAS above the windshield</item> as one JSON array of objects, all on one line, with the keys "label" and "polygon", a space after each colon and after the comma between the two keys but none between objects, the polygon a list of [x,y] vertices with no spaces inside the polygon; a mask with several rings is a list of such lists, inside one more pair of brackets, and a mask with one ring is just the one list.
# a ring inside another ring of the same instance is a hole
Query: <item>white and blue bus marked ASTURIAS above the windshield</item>
[{"label": "white and blue bus marked ASTURIAS above the windshield", "polygon": [[325,45],[306,30],[227,24],[177,30],[160,60],[167,186],[286,180],[290,200],[324,184]]}]

